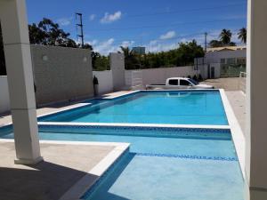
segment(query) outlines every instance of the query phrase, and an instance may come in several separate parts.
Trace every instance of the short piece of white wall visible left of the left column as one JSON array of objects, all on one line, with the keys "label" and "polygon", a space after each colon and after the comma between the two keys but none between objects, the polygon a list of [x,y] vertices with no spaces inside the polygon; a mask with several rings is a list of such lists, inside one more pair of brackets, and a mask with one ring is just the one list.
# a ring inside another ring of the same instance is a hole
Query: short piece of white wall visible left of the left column
[{"label": "short piece of white wall visible left of the left column", "polygon": [[0,76],[0,113],[10,109],[7,76]]}]

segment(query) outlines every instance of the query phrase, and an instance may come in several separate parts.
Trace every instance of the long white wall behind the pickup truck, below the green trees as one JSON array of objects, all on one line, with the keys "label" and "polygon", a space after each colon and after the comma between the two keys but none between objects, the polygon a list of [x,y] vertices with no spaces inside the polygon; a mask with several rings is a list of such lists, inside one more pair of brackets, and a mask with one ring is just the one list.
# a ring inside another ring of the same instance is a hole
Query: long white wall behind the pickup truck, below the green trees
[{"label": "long white wall behind the pickup truck, below the green trees", "polygon": [[142,84],[166,84],[169,77],[194,76],[198,71],[194,67],[177,67],[177,68],[147,68],[141,70],[125,70],[125,84],[133,86],[131,74],[134,71],[142,71]]}]

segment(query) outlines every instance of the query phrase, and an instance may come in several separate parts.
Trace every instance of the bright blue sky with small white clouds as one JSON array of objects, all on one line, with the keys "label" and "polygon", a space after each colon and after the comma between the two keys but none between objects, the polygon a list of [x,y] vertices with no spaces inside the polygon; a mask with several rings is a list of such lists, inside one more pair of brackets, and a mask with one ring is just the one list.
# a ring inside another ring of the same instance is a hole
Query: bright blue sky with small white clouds
[{"label": "bright blue sky with small white clouds", "polygon": [[44,17],[77,39],[76,12],[83,14],[85,43],[96,52],[117,52],[119,46],[145,46],[147,52],[177,48],[196,39],[218,39],[231,29],[239,43],[239,28],[247,26],[246,0],[26,0],[28,23]]}]

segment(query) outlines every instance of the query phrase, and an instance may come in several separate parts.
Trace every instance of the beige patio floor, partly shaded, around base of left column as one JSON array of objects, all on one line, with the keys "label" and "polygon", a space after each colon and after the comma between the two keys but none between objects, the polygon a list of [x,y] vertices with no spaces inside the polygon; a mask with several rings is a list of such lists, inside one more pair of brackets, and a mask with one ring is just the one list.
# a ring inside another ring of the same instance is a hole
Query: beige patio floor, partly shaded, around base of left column
[{"label": "beige patio floor, partly shaded, around base of left column", "polygon": [[0,143],[0,199],[56,200],[88,174],[115,147],[41,144],[44,162],[14,164],[13,142]]}]

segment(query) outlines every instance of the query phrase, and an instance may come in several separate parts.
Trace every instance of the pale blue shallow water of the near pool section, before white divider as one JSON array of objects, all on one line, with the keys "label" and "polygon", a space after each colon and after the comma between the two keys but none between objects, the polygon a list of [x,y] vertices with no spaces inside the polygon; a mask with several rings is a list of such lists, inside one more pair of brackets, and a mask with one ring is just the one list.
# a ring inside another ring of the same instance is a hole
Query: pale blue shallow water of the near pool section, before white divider
[{"label": "pale blue shallow water of the near pool section, before white divider", "polygon": [[[1,131],[1,129],[0,129]],[[130,142],[86,200],[243,200],[229,130],[41,125],[42,140]],[[12,138],[2,130],[1,138]]]}]

